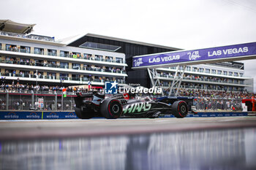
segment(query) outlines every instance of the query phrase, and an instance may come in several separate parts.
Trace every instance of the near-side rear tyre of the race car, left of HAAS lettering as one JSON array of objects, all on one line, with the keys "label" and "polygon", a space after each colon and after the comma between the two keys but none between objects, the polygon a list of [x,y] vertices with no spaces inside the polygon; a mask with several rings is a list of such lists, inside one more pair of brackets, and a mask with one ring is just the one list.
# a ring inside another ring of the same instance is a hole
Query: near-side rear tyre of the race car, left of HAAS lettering
[{"label": "near-side rear tyre of the race car, left of HAAS lettering", "polygon": [[107,98],[100,106],[100,113],[107,119],[116,119],[121,116],[123,107],[120,101],[112,98]]}]

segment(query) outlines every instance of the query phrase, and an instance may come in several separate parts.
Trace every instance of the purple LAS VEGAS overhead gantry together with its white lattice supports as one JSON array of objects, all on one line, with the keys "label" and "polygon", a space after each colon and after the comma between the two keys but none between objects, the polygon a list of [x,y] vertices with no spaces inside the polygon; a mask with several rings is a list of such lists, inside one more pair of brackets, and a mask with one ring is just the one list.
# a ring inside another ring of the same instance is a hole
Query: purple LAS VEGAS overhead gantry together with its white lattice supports
[{"label": "purple LAS VEGAS overhead gantry together with its white lattice supports", "polygon": [[[252,59],[256,59],[256,42],[197,50],[138,55],[132,58],[132,69],[147,69],[152,86],[159,87],[161,83],[156,69],[176,66],[173,82],[168,88],[170,89],[169,96],[171,94],[177,96],[184,77],[184,71],[188,65]],[[180,76],[178,76],[178,72],[181,73]]]}]

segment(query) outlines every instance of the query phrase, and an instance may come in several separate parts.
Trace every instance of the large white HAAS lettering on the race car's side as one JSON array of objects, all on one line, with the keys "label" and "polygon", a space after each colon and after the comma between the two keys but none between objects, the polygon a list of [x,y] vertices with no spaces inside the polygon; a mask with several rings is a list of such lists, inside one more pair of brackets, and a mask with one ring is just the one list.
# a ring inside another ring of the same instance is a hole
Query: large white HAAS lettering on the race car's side
[{"label": "large white HAAS lettering on the race car's side", "polygon": [[127,105],[124,108],[124,114],[126,113],[134,113],[134,112],[146,112],[149,109],[151,109],[151,104],[149,102],[141,102],[141,103],[135,103]]}]

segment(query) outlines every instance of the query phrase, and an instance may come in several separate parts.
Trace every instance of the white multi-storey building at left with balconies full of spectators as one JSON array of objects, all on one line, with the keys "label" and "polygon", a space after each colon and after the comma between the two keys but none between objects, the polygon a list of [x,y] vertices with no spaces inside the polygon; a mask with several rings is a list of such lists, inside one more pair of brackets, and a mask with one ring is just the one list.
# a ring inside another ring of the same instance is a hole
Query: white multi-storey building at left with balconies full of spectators
[{"label": "white multi-storey building at left with balconies full of spectators", "polygon": [[50,36],[26,35],[34,24],[0,20],[0,25],[1,77],[7,83],[68,86],[90,82],[99,87],[105,80],[125,83],[123,53],[70,47]]}]

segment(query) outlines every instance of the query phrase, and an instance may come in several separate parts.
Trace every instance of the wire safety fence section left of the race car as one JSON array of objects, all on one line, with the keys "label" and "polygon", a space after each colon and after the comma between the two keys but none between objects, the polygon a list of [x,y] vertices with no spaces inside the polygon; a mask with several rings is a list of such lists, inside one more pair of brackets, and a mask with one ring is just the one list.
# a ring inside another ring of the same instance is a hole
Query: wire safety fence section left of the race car
[{"label": "wire safety fence section left of the race car", "polygon": [[0,110],[42,110],[42,111],[67,111],[74,110],[75,93],[68,93],[64,97],[62,92],[16,90],[0,91]]}]

